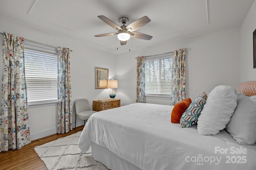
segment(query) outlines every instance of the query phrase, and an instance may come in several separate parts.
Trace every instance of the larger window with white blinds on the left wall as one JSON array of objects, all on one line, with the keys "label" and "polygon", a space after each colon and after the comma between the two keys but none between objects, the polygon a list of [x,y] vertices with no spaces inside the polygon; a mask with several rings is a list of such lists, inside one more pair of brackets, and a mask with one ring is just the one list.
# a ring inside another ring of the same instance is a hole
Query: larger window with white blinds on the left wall
[{"label": "larger window with white blinds on the left wall", "polygon": [[26,40],[24,55],[28,105],[57,102],[57,48]]}]

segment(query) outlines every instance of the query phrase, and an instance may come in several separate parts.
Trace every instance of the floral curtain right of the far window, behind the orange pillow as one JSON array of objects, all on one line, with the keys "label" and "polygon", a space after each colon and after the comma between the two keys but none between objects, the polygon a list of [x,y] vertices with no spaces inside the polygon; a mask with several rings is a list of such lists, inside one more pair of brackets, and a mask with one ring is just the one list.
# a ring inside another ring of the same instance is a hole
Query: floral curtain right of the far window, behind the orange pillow
[{"label": "floral curtain right of the far window, behind the orange pillow", "polygon": [[171,105],[174,106],[186,98],[186,48],[179,49],[173,53],[172,69],[172,97]]}]

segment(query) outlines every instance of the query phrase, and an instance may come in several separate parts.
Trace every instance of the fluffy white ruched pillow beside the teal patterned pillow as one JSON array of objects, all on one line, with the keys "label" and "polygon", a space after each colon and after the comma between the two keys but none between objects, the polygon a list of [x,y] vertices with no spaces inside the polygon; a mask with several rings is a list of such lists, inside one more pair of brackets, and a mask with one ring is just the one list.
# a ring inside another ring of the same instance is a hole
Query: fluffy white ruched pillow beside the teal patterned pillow
[{"label": "fluffy white ruched pillow beside the teal patterned pillow", "polygon": [[206,104],[198,117],[197,131],[200,135],[216,135],[224,129],[237,106],[236,89],[216,86],[208,95]]}]

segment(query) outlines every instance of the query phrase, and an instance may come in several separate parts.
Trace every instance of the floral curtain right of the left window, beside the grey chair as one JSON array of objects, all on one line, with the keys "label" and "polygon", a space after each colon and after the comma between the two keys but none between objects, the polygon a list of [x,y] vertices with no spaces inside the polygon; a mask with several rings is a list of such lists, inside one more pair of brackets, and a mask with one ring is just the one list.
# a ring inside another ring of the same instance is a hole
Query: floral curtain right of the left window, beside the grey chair
[{"label": "floral curtain right of the left window, beside the grey chair", "polygon": [[72,130],[70,50],[58,47],[58,133]]}]

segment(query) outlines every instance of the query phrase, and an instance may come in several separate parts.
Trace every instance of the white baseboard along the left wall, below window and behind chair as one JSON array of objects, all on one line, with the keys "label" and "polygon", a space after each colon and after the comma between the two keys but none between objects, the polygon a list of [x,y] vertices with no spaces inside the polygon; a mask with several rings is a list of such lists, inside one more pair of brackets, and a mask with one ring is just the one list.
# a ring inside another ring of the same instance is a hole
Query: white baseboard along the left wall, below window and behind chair
[{"label": "white baseboard along the left wall, below window and behind chair", "polygon": [[[72,124],[73,124],[73,129],[74,129],[75,128],[75,122],[73,122]],[[84,120],[80,119],[80,121],[76,121],[76,127],[79,127],[79,126],[82,126],[82,125],[84,125]],[[40,138],[43,138],[43,137],[54,135],[56,133],[58,133],[58,127],[55,127],[55,128],[53,127],[53,128],[50,128],[50,129],[45,129],[44,131],[31,133],[30,138],[31,138],[31,141],[34,141],[36,139],[40,139]]]}]

